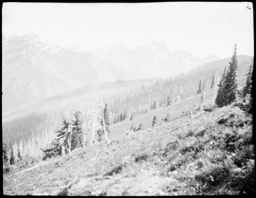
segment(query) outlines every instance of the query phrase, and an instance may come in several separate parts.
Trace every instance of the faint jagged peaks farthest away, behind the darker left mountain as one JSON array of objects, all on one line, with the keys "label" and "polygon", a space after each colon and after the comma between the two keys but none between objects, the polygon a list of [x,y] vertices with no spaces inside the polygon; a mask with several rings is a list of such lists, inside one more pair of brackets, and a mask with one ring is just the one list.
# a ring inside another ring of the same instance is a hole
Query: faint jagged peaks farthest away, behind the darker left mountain
[{"label": "faint jagged peaks farthest away, behind the darker left mountain", "polygon": [[171,52],[164,42],[157,41],[140,45],[133,50],[121,43],[102,46],[96,48],[93,53],[124,70],[129,79],[174,76],[201,64],[218,60],[215,55],[201,59],[182,49]]}]

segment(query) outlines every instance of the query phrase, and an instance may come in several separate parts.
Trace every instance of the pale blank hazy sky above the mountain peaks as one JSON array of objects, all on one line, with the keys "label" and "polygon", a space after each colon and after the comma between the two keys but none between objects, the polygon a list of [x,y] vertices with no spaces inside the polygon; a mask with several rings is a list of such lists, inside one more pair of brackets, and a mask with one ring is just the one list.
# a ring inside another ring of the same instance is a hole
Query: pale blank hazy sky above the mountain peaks
[{"label": "pale blank hazy sky above the mountain peaks", "polygon": [[134,48],[163,41],[170,50],[198,57],[230,57],[234,43],[238,54],[253,55],[251,3],[4,3],[2,13],[6,35],[36,33],[89,51],[119,42]]}]

